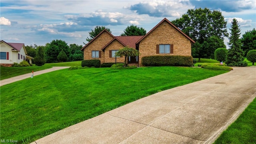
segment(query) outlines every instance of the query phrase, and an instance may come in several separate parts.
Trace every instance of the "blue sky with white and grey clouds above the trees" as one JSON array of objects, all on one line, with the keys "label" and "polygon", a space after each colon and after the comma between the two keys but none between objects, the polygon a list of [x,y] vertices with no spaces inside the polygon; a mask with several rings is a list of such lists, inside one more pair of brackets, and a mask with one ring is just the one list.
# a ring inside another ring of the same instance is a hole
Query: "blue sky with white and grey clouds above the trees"
[{"label": "blue sky with white and grey clouds above the trees", "polygon": [[0,38],[25,46],[56,39],[84,45],[95,26],[110,28],[114,36],[131,24],[148,32],[164,18],[205,7],[220,10],[228,28],[236,18],[242,34],[256,28],[256,0],[1,0]]}]

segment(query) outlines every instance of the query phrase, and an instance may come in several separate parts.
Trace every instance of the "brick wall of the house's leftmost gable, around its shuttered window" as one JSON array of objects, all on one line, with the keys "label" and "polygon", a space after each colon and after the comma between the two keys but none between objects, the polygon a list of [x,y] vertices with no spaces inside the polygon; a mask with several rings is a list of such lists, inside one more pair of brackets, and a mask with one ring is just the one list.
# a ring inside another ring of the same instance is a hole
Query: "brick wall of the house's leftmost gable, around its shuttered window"
[{"label": "brick wall of the house's leftmost gable, around its shuttered window", "polygon": [[[105,62],[105,54],[102,51],[102,48],[106,46],[111,40],[113,36],[108,34],[108,32],[102,32],[98,38],[94,39],[86,48],[84,48],[84,60],[98,59],[100,63]],[[92,58],[92,50],[101,51],[101,58]]]}]

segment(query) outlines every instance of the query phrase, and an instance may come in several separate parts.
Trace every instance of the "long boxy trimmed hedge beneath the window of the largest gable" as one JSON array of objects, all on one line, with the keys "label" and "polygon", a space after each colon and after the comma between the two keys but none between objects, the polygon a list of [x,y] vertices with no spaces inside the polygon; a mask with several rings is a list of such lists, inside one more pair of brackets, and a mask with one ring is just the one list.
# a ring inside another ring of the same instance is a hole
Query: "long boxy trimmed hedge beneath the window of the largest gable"
[{"label": "long boxy trimmed hedge beneath the window of the largest gable", "polygon": [[144,66],[193,66],[192,56],[144,56]]}]

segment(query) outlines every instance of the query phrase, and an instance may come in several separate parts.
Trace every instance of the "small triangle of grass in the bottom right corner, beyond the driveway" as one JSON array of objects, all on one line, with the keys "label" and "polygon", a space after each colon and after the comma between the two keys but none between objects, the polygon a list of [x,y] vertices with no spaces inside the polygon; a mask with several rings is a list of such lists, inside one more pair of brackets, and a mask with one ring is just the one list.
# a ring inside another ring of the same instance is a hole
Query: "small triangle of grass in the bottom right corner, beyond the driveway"
[{"label": "small triangle of grass in the bottom right corner, beyond the driveway", "polygon": [[256,144],[256,98],[214,144]]}]

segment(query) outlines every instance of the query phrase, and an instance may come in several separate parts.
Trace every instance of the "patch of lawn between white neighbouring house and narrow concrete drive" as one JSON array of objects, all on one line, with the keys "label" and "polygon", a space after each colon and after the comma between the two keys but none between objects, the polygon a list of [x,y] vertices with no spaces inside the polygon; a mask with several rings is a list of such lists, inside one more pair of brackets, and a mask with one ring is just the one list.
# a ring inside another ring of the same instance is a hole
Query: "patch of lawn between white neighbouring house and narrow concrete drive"
[{"label": "patch of lawn between white neighbouring house and narrow concrete drive", "polygon": [[0,67],[0,80],[51,68],[52,66]]}]

